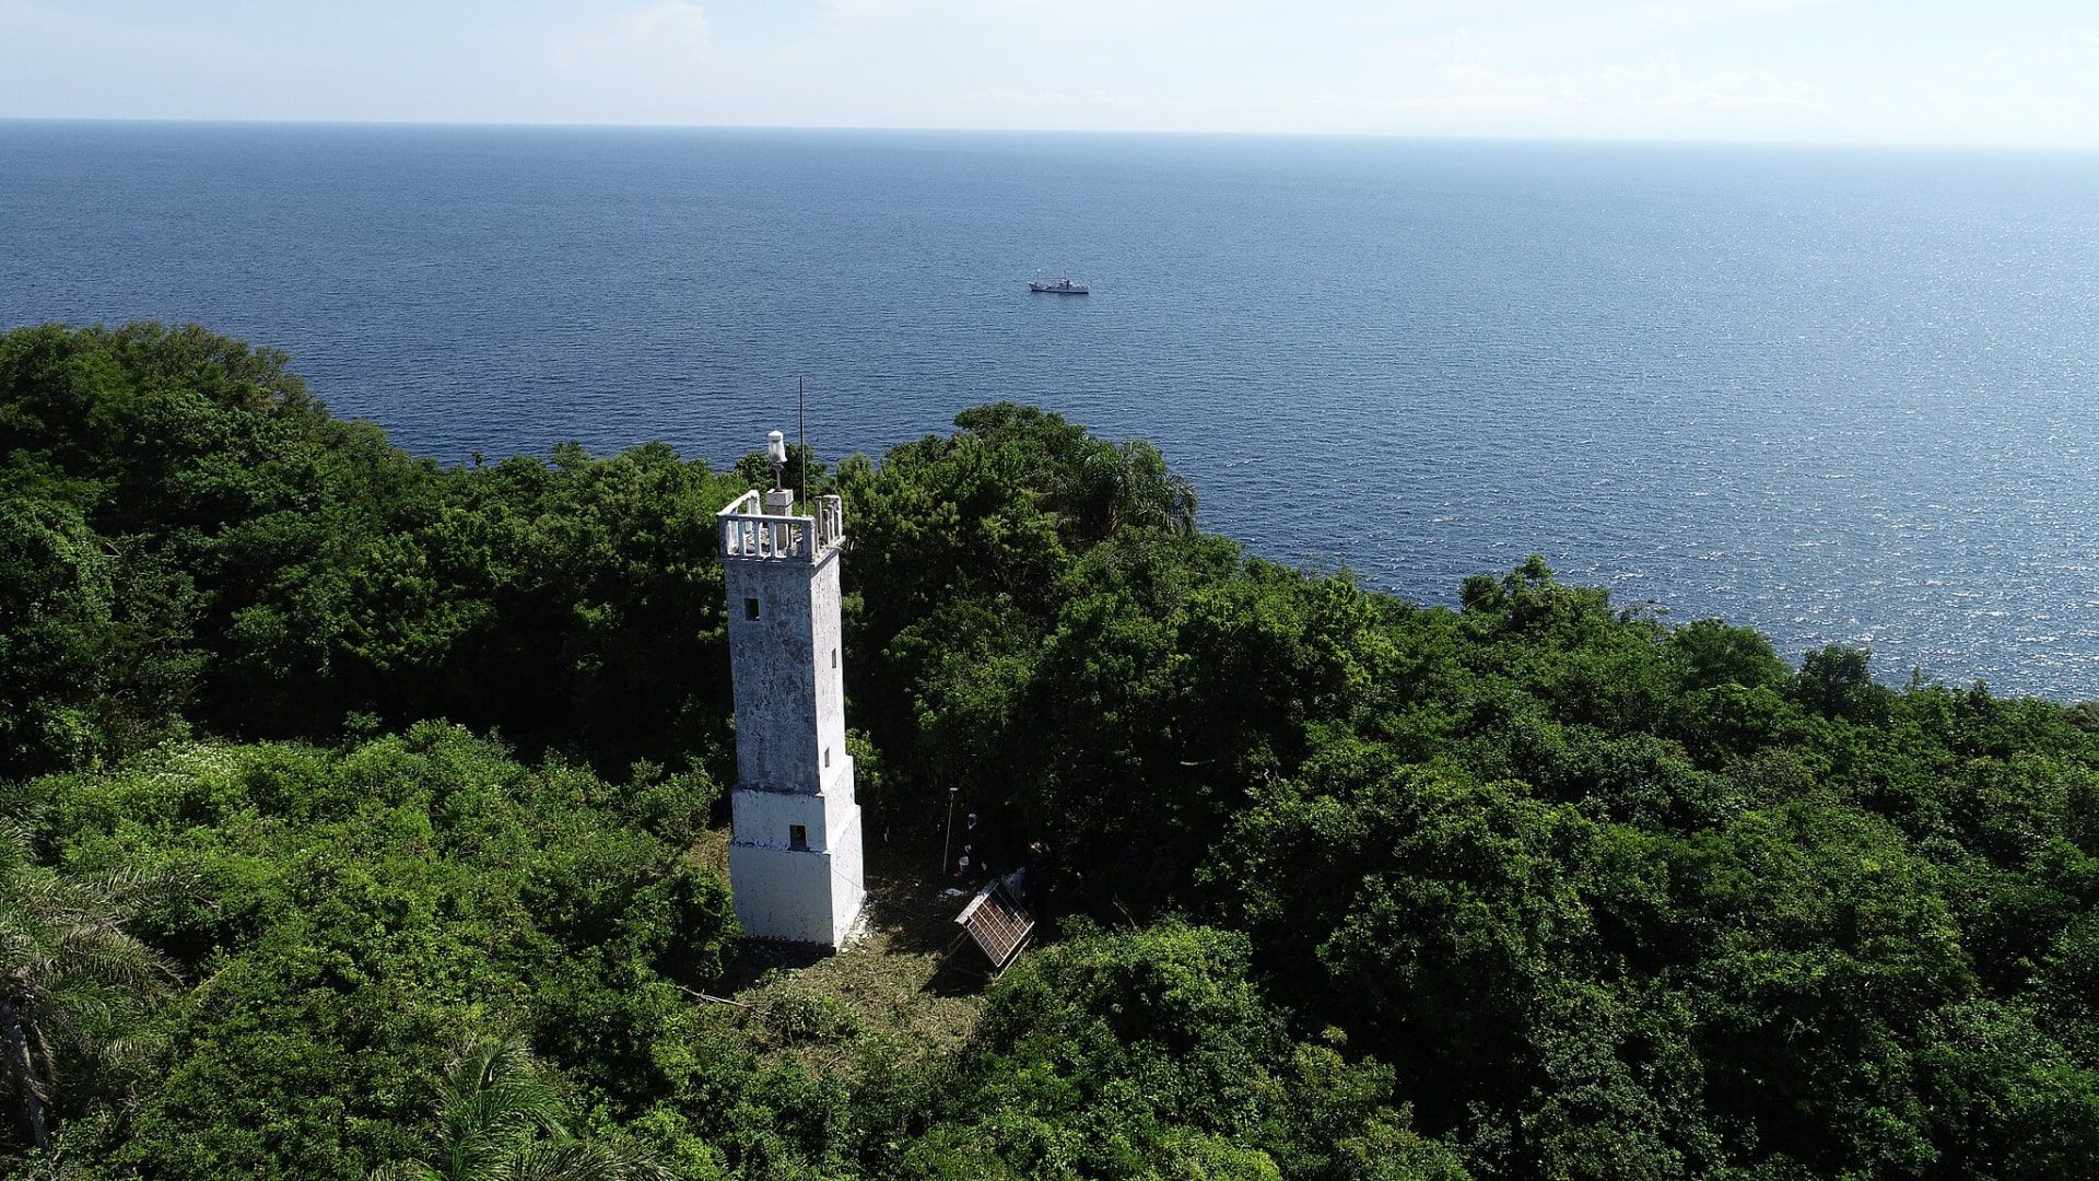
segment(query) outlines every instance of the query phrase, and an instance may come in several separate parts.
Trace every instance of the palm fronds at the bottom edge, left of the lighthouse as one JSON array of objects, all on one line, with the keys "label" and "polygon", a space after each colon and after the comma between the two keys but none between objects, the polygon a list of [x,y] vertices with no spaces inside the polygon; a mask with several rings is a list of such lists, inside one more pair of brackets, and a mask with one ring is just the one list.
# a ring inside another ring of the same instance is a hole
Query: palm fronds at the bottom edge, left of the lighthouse
[{"label": "palm fronds at the bottom edge, left of the lighthouse", "polygon": [[569,1135],[560,1095],[525,1038],[468,1040],[437,1084],[437,1164],[405,1160],[372,1181],[657,1181],[655,1162]]}]

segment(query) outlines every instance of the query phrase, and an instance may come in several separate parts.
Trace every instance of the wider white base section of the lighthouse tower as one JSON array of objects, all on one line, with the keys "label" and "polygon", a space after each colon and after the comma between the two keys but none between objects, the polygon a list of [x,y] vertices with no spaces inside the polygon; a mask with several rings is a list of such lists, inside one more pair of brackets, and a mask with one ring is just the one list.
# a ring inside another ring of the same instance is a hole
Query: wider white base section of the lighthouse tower
[{"label": "wider white base section of the lighthouse tower", "polygon": [[728,803],[728,889],[743,933],[844,946],[867,902],[850,761],[827,792],[737,788]]}]

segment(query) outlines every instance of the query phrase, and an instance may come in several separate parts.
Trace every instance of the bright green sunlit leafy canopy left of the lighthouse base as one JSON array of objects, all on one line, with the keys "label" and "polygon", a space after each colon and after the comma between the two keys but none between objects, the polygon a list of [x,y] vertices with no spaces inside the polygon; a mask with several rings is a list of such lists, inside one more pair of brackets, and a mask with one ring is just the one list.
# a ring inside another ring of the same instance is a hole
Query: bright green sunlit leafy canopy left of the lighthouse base
[{"label": "bright green sunlit leafy canopy left of the lighthouse base", "polygon": [[[195,988],[149,1032],[166,1068],[76,1158],[160,1179],[363,1179],[416,1156],[424,1070],[462,1034],[531,1030],[581,1107],[667,1091],[651,1049],[735,937],[726,885],[649,826],[649,799],[455,727],[325,750],[170,744],[124,767],[23,784],[69,876],[181,868],[136,931]],[[674,983],[678,981],[678,983]]]}]

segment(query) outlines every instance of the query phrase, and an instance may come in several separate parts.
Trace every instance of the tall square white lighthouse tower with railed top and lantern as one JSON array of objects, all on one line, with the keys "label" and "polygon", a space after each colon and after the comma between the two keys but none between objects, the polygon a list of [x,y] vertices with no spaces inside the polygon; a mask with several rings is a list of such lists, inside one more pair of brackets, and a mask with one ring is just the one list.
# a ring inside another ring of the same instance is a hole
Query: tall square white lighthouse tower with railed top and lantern
[{"label": "tall square white lighthouse tower with railed top and lantern", "polygon": [[737,691],[728,885],[747,935],[835,950],[867,899],[838,658],[846,515],[838,496],[796,515],[779,481],[779,431],[768,454],[772,492],[747,492],[716,517]]}]

